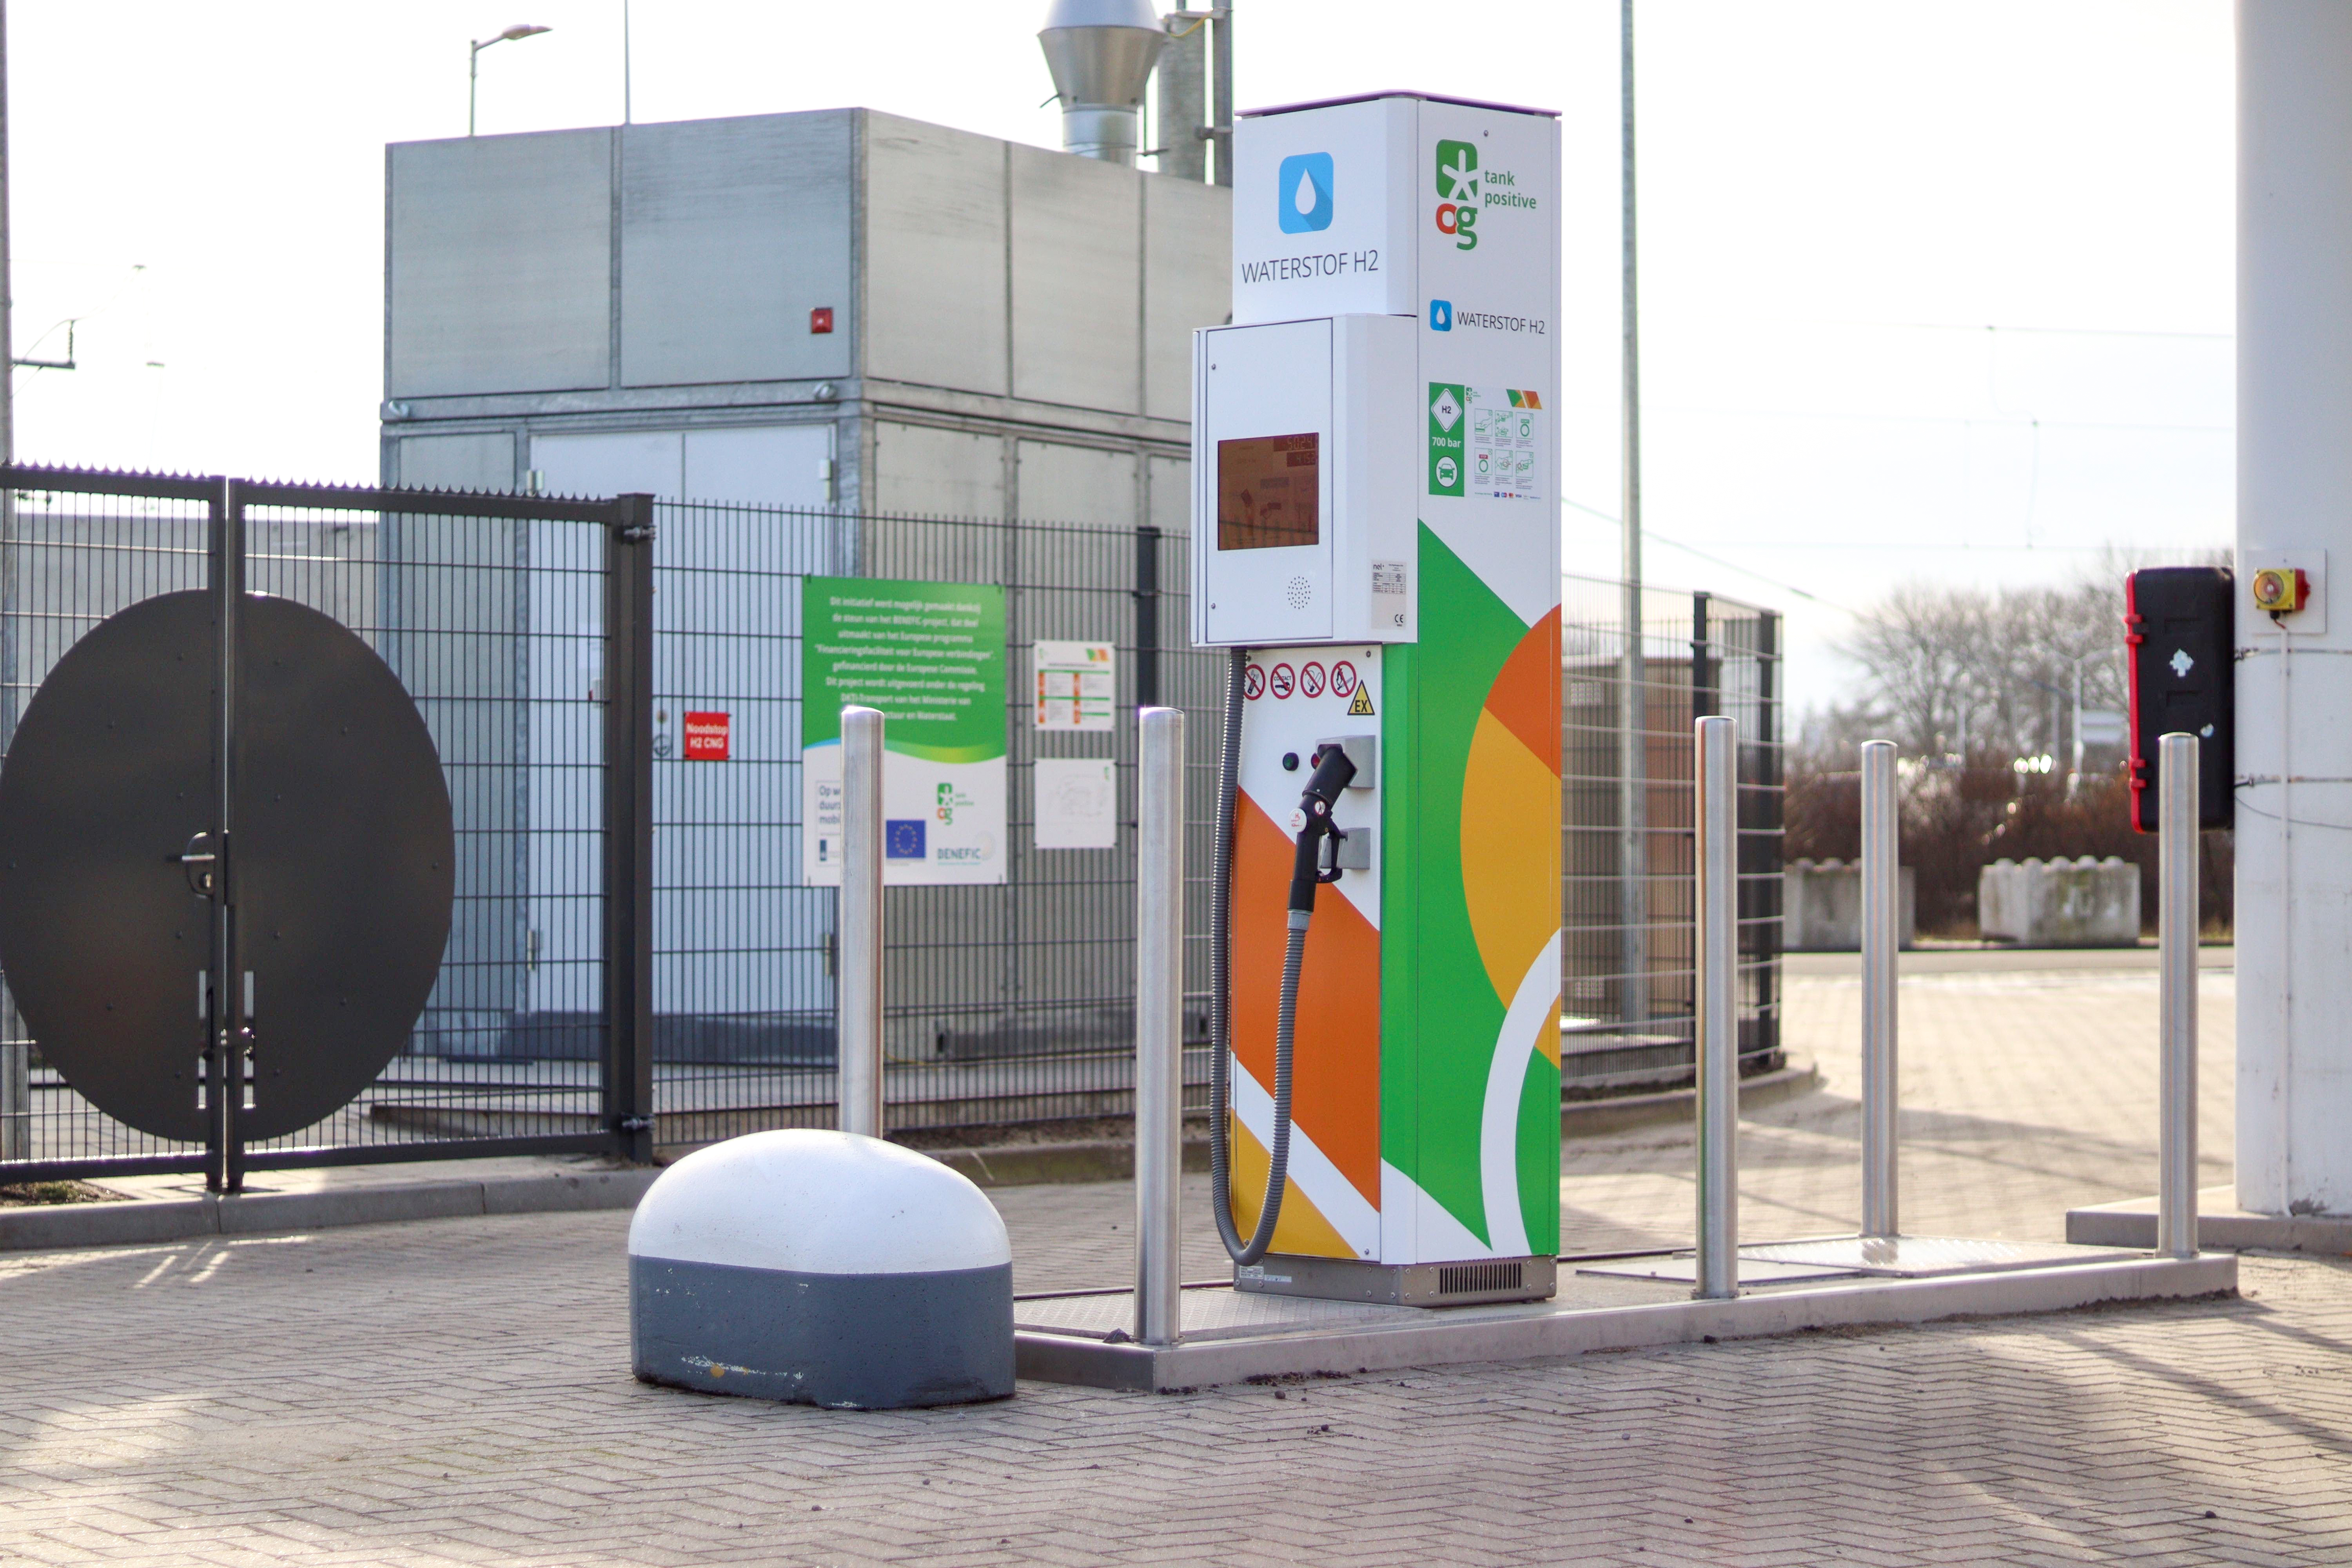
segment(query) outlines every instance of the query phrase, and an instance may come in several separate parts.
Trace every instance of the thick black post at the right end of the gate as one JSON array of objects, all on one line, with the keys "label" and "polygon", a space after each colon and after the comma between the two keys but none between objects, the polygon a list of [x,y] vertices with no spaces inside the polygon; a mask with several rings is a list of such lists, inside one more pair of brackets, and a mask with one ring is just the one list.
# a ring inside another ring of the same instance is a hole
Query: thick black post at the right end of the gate
[{"label": "thick black post at the right end of the gate", "polygon": [[654,498],[604,545],[604,1131],[654,1159]]}]

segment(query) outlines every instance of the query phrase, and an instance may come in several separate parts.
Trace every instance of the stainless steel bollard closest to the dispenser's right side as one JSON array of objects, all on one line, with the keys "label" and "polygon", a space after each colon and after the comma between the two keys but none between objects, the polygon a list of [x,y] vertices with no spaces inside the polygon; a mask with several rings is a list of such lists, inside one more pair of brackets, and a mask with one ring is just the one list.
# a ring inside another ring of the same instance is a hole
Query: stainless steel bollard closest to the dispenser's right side
[{"label": "stainless steel bollard closest to the dispenser's right side", "polygon": [[1696,722],[1698,752],[1698,1288],[1740,1293],[1738,731]]}]

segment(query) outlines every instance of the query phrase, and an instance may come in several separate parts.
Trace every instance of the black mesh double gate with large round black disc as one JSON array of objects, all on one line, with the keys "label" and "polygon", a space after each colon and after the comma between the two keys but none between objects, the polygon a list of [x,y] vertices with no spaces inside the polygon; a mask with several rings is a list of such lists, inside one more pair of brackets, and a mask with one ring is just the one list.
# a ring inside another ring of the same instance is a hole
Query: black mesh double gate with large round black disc
[{"label": "black mesh double gate with large round black disc", "polygon": [[[0,470],[0,748],[14,748],[28,701],[59,661],[118,611],[160,595],[202,595],[207,644],[219,649],[219,628],[233,625],[240,607],[292,602],[358,632],[400,677],[440,752],[456,846],[445,961],[407,1048],[348,1105],[294,1131],[247,1135],[247,1041],[263,1041],[263,1056],[299,1053],[303,1041],[270,1041],[268,1001],[249,1037],[252,980],[235,980],[249,964],[219,943],[219,978],[186,1013],[186,1056],[212,1091],[200,1143],[103,1114],[42,1060],[14,992],[0,994],[0,1180],[207,1171],[212,1185],[235,1190],[247,1166],[506,1152],[649,1157],[649,966],[640,938],[649,926],[649,832],[640,802],[652,755],[630,743],[649,741],[630,733],[649,708],[630,682],[649,668],[652,501],[24,465]],[[576,670],[588,679],[564,679]],[[602,670],[616,675],[612,689],[600,689]],[[214,701],[230,693],[212,733],[216,769],[254,743],[240,733],[233,701],[245,679],[212,684]],[[637,766],[607,769],[607,757]],[[529,813],[532,780],[550,771],[597,778],[593,818]],[[223,863],[207,863],[214,851]],[[534,954],[513,936],[534,860],[581,856],[597,875],[569,903],[576,940],[560,966],[569,985],[595,997],[586,1025],[593,1060],[550,1074],[506,1051],[515,1004],[534,978]],[[230,872],[221,842],[195,842],[188,858],[207,863],[207,875]],[[221,891],[235,931],[233,877]],[[350,893],[369,898],[369,889]],[[268,933],[242,940],[266,943]],[[633,959],[612,964],[609,954]],[[550,1107],[564,1124],[449,1135],[430,1107],[452,1098]]]}]

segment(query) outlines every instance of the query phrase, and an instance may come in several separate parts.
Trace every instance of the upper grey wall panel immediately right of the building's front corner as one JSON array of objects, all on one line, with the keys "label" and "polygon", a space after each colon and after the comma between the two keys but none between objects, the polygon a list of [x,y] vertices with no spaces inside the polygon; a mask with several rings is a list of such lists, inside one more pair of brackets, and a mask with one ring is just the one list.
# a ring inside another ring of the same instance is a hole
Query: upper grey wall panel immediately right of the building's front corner
[{"label": "upper grey wall panel immediately right of the building's front corner", "polygon": [[866,374],[1007,393],[1004,143],[866,110]]}]

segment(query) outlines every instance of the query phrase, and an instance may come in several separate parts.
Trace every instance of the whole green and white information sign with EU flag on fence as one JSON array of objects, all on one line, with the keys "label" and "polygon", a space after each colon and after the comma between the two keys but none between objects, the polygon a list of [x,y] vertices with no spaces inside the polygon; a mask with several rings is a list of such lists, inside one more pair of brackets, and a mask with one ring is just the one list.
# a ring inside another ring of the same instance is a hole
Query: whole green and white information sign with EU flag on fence
[{"label": "whole green and white information sign with EU flag on fence", "polygon": [[880,708],[882,879],[1004,882],[1004,590],[802,578],[802,875],[842,879],[842,708]]}]

